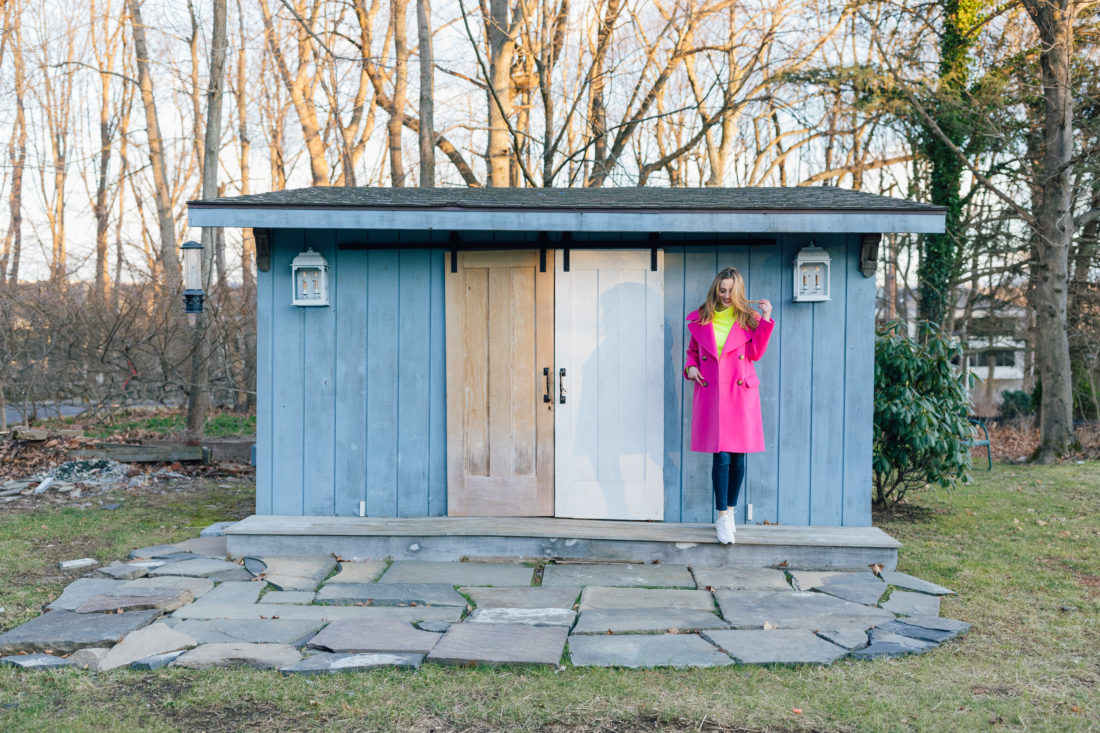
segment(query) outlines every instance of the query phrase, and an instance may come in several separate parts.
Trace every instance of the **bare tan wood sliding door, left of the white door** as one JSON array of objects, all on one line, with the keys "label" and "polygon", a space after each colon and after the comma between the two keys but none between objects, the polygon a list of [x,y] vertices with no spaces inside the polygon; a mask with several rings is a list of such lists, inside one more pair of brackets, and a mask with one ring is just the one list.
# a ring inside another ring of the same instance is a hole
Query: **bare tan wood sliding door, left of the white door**
[{"label": "bare tan wood sliding door, left of the white door", "polygon": [[[459,252],[447,300],[447,513],[553,513],[553,267]],[[409,364],[409,369],[419,369]],[[543,371],[546,370],[546,371]]]}]

